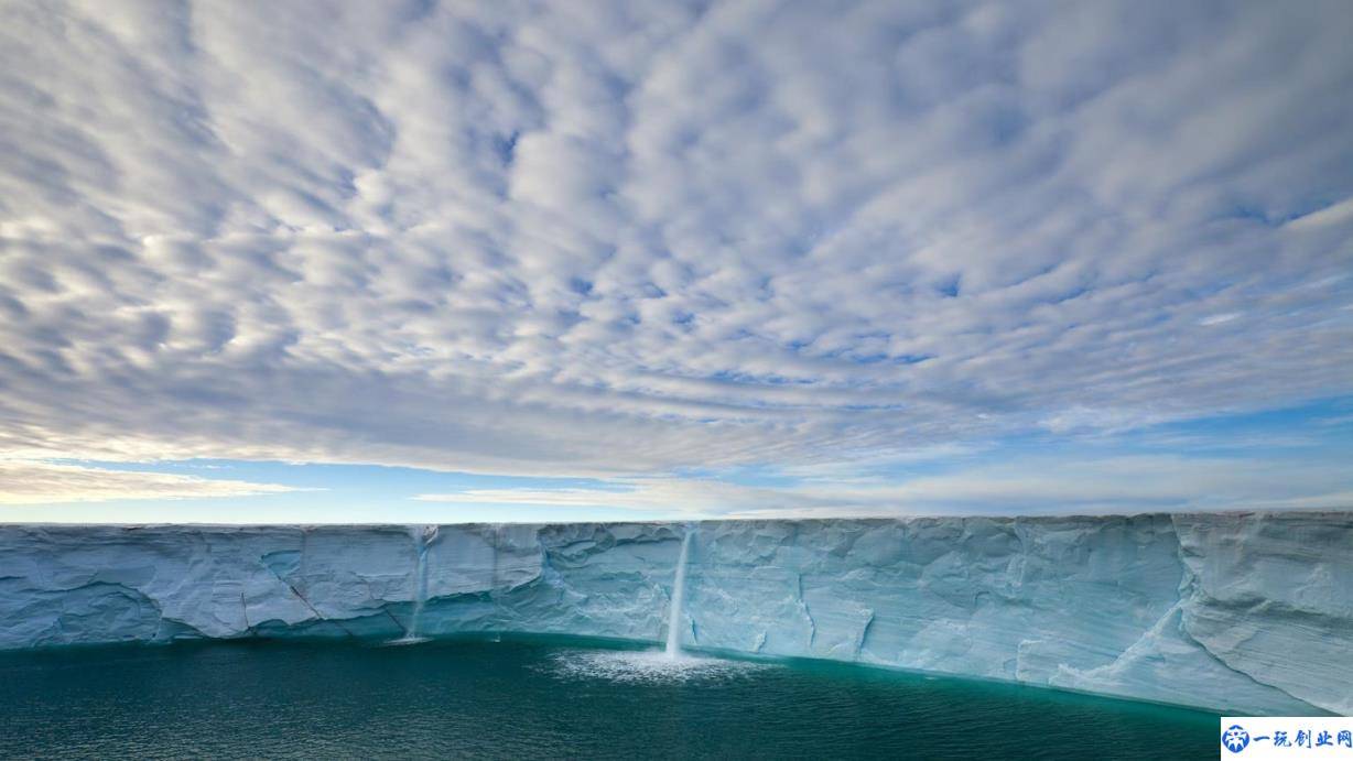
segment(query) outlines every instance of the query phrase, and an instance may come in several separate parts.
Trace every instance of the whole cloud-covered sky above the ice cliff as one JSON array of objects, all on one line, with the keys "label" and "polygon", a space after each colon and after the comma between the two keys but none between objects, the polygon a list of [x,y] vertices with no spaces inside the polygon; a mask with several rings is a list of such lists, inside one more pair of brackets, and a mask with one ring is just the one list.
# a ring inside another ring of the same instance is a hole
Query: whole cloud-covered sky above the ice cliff
[{"label": "whole cloud-covered sky above the ice cliff", "polygon": [[0,522],[1353,507],[1350,38],[0,1]]}]

